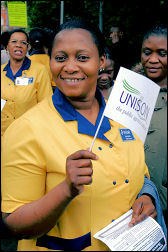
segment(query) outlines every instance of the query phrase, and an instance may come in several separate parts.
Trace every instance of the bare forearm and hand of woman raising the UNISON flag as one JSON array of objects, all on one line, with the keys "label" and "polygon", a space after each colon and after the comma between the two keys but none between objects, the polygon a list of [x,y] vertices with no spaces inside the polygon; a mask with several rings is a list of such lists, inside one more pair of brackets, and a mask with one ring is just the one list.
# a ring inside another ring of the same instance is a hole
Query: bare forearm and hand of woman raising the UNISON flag
[{"label": "bare forearm and hand of woman raising the UNISON flag", "polygon": [[97,156],[89,151],[77,151],[67,158],[66,179],[41,199],[25,204],[3,220],[20,239],[38,237],[51,230],[71,200],[92,182],[92,162]]}]

